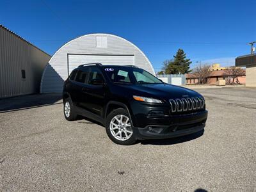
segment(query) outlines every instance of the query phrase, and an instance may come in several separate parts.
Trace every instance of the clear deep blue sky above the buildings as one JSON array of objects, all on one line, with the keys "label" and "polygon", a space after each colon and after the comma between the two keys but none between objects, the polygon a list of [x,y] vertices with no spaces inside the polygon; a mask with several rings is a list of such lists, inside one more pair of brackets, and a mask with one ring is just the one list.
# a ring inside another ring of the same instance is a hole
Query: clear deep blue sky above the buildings
[{"label": "clear deep blue sky above the buildings", "polygon": [[51,55],[78,36],[111,33],[137,45],[156,72],[179,48],[191,68],[234,65],[256,41],[255,0],[0,2],[0,24]]}]

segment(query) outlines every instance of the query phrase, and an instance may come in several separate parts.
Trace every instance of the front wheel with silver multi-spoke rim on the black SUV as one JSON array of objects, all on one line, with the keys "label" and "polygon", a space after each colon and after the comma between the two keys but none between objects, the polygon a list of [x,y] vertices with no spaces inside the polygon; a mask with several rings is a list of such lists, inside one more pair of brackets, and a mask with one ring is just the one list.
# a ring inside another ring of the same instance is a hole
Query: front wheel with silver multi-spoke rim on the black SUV
[{"label": "front wheel with silver multi-spoke rim on the black SUV", "polygon": [[129,113],[118,108],[112,111],[106,119],[106,132],[109,138],[116,144],[132,145],[136,142],[132,131]]}]

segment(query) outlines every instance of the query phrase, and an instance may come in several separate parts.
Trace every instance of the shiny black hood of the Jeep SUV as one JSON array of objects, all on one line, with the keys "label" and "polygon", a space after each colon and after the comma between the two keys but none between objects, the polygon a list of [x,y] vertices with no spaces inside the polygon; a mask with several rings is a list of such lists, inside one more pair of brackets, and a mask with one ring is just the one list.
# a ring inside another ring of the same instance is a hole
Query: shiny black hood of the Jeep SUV
[{"label": "shiny black hood of the Jeep SUV", "polygon": [[134,95],[156,99],[176,99],[182,97],[202,97],[199,93],[172,84],[132,84],[129,86]]}]

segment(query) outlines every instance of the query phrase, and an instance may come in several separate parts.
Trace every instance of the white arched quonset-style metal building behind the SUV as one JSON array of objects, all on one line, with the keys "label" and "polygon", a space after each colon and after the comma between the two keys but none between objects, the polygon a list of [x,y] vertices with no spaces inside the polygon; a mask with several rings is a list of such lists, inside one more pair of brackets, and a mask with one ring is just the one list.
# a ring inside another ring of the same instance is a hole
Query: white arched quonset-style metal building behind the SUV
[{"label": "white arched quonset-style metal building behind the SUV", "polygon": [[84,63],[102,65],[136,65],[155,74],[147,56],[131,42],[115,35],[90,34],[63,45],[44,69],[41,93],[61,93],[70,72]]}]

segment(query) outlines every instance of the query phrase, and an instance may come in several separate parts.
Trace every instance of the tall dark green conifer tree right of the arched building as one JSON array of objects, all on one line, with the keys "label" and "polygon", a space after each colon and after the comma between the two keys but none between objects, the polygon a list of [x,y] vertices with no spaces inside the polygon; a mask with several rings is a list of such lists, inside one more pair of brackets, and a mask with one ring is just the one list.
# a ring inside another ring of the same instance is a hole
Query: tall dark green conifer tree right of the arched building
[{"label": "tall dark green conifer tree right of the arched building", "polygon": [[164,61],[165,74],[186,74],[191,72],[189,65],[192,63],[186,58],[186,53],[182,49],[178,49],[176,55],[173,56],[174,60]]}]

